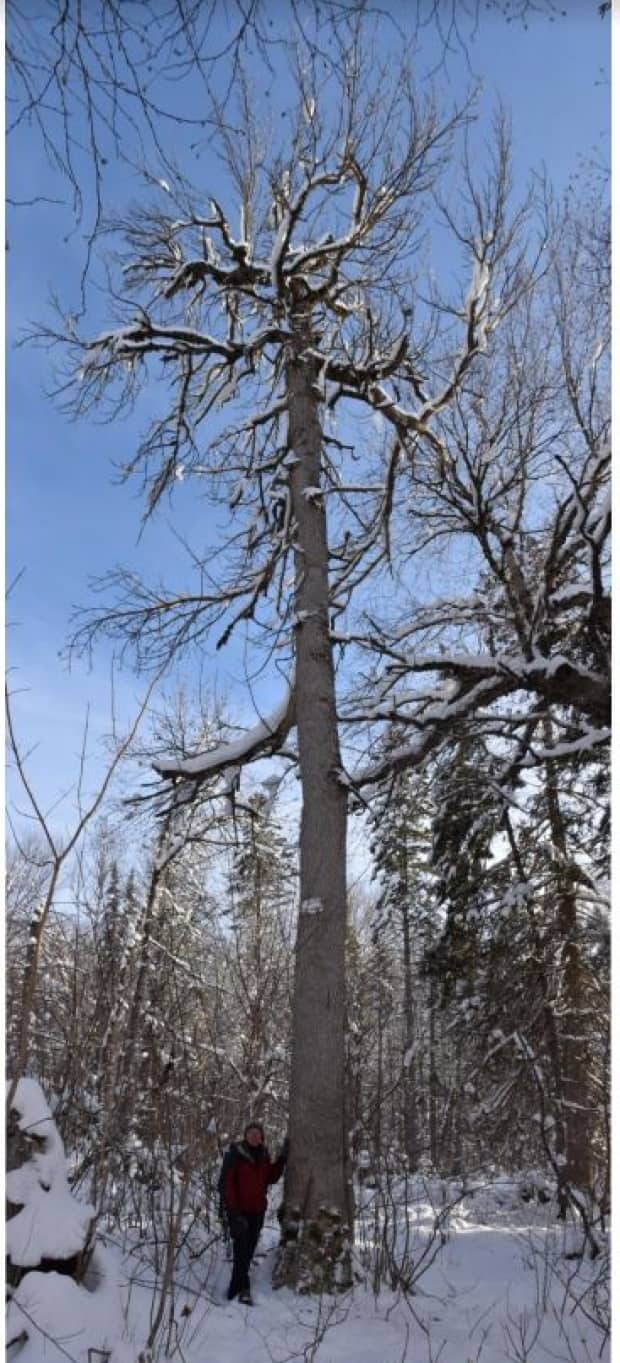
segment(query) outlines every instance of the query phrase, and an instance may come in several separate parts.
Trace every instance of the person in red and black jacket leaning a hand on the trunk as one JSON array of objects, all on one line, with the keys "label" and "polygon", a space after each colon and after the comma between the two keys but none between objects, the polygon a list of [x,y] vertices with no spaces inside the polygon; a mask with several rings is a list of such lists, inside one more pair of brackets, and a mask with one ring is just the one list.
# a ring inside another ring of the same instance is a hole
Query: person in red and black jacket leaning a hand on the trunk
[{"label": "person in red and black jacket leaning a hand on the trunk", "polygon": [[249,1265],[267,1210],[267,1187],[282,1176],[289,1153],[286,1138],[278,1157],[271,1161],[260,1122],[248,1122],[243,1141],[234,1141],[223,1159],[223,1210],[233,1242],[233,1274],[228,1300],[238,1298],[252,1306]]}]

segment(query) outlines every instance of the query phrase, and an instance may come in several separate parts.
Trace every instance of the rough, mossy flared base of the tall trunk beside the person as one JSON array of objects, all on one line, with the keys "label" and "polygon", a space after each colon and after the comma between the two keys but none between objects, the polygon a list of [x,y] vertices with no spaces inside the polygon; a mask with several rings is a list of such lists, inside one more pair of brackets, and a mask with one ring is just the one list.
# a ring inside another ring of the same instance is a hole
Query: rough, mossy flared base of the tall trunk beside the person
[{"label": "rough, mossy flared base of the tall trunk beside the person", "polygon": [[274,1287],[320,1296],[346,1292],[352,1281],[350,1229],[341,1213],[320,1206],[304,1220],[298,1208],[285,1208]]}]

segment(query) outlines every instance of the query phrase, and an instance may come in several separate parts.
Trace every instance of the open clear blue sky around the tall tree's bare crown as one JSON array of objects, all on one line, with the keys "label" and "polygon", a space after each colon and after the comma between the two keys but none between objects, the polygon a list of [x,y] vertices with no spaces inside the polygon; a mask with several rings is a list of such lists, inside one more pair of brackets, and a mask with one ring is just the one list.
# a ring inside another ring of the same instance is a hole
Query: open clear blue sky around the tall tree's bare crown
[{"label": "open clear blue sky around the tall tree's bare crown", "polygon": [[[565,19],[551,23],[537,18],[527,30],[507,25],[497,15],[482,15],[470,44],[470,70],[463,53],[456,52],[433,75],[437,97],[446,101],[462,94],[473,76],[482,82],[478,154],[485,117],[501,98],[512,117],[521,184],[530,169],[544,164],[555,187],[563,189],[571,177],[579,176],[583,158],[608,161],[609,22],[597,18],[589,0],[567,3],[567,10]],[[394,0],[391,11],[406,23],[405,0],[402,4]],[[274,5],[278,22],[281,14],[282,7]],[[388,41],[387,25],[384,37]],[[436,41],[428,33],[416,71],[424,78],[425,71],[436,67]],[[262,78],[258,90],[263,83],[264,108],[275,119],[286,109],[286,83]],[[179,140],[176,151],[183,164]],[[157,173],[155,158],[150,165]],[[219,172],[208,146],[189,165],[195,181],[204,177],[208,189],[218,192]],[[37,135],[26,127],[10,142],[7,189],[16,199],[41,191],[52,196],[65,192],[46,165]],[[110,207],[123,209],[139,198],[139,177],[127,166],[112,164],[108,192]],[[109,728],[109,650],[101,647],[90,668],[75,662],[71,675],[59,657],[69,634],[72,609],[91,598],[89,579],[114,563],[128,563],[147,578],[187,583],[187,559],[173,526],[199,542],[213,536],[204,503],[181,489],[177,503],[164,506],[139,538],[139,487],[119,485],[112,463],[132,453],[147,408],[142,405],[135,416],[116,425],[71,424],[45,395],[53,386],[49,353],[31,345],[15,348],[30,322],[49,316],[52,292],[76,305],[84,243],[83,228],[75,232],[72,226],[69,210],[61,206],[8,211],[7,582],[20,577],[7,608],[7,656],[12,684],[19,691],[16,724],[25,744],[37,746],[31,771],[46,804],[71,784],[89,703],[94,776],[97,744]],[[94,279],[101,281],[97,267]],[[90,330],[97,333],[105,319],[101,293],[93,294],[90,307]],[[187,680],[189,673],[191,680],[193,668],[195,662],[187,662],[179,676]],[[203,675],[213,676],[238,718],[249,720],[252,705],[244,691],[243,671],[240,646],[226,657],[218,654],[215,660],[207,654],[203,660]],[[143,687],[131,673],[117,679],[121,713],[132,707]],[[266,680],[258,690],[259,703],[268,706],[271,695],[273,683]]]}]

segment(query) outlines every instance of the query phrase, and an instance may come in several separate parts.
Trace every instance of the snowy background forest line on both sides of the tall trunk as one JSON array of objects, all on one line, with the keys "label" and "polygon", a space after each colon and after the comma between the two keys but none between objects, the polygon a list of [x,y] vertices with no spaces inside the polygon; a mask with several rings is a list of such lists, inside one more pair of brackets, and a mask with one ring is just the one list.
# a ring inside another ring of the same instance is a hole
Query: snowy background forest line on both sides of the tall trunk
[{"label": "snowy background forest line on both sides of the tall trunk", "polygon": [[[394,736],[392,736],[394,737]],[[350,891],[346,1096],[352,1160],[376,1180],[500,1167],[565,1179],[590,1208],[609,1179],[605,792],[597,767],[536,773],[518,814],[481,750],[397,777],[371,819],[375,875]],[[258,793],[158,879],[114,821],[52,910],[33,1073],[53,1094],[75,1186],[119,1224],[189,1160],[214,1217],[226,1139],[247,1114],[288,1124],[294,834]],[[20,1035],[45,845],[7,861],[7,1040]],[[217,1224],[217,1223],[214,1223]]]}]

